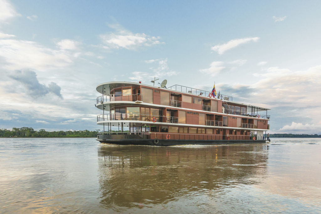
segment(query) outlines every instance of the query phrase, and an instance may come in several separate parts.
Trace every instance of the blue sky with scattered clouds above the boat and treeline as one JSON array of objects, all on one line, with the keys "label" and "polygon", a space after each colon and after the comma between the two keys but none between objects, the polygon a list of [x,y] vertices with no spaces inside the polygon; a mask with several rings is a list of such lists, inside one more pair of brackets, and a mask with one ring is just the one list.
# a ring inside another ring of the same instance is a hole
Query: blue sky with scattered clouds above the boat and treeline
[{"label": "blue sky with scattered clouds above the boat and treeline", "polygon": [[[96,86],[167,79],[321,134],[321,1],[0,0],[0,128],[95,130]],[[156,81],[157,82],[157,81]]]}]

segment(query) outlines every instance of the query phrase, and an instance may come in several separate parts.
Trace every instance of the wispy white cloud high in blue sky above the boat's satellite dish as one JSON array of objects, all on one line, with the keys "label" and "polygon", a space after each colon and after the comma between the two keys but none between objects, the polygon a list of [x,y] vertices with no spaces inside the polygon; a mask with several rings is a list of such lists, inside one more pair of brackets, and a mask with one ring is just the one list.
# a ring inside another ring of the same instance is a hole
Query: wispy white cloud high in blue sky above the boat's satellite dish
[{"label": "wispy white cloud high in blue sky above the boat's satellite dish", "polygon": [[115,33],[106,33],[100,35],[100,39],[107,49],[136,49],[140,46],[152,46],[161,44],[160,37],[148,36],[144,33],[132,33],[124,29],[119,24],[109,25],[109,27],[116,30]]}]

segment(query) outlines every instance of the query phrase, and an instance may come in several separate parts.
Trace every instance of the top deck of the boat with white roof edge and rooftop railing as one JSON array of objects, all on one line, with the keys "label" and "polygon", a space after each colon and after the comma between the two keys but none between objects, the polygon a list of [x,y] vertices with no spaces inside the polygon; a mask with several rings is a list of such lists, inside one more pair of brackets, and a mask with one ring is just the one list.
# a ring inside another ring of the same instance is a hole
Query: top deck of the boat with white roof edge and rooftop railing
[{"label": "top deck of the boat with white roof edge and rooftop railing", "polygon": [[[124,92],[124,89],[126,92]],[[218,98],[210,98],[208,97],[210,91],[181,85],[160,88],[136,82],[114,81],[101,83],[96,87],[96,90],[103,94],[97,98],[97,107],[100,109],[102,109],[100,104],[106,101],[114,103],[134,102],[136,104],[142,103],[142,105],[167,106],[270,119],[270,116],[267,115],[267,110],[270,110],[268,108],[234,102],[231,96],[223,94],[220,94]],[[266,111],[266,113],[260,114],[261,111]]]}]

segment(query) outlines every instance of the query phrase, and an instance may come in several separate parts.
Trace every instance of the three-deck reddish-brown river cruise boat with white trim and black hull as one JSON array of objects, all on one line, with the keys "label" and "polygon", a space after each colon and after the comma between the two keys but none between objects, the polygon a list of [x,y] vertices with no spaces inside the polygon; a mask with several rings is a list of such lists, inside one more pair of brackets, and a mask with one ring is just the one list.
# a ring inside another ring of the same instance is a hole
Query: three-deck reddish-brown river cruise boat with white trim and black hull
[{"label": "three-deck reddish-brown river cruise boat with white trim and black hull", "polygon": [[101,143],[182,145],[264,143],[270,109],[234,102],[230,96],[173,85],[105,82],[96,107]]}]

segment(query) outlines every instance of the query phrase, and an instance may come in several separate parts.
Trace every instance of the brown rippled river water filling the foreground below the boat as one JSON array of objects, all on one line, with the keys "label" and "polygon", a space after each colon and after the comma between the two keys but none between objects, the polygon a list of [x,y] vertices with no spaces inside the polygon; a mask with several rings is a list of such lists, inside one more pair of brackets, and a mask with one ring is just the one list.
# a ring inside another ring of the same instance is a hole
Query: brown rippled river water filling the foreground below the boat
[{"label": "brown rippled river water filling the foreground below the boat", "polygon": [[321,213],[321,139],[114,146],[0,138],[2,213]]}]

